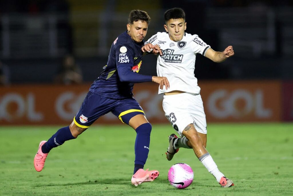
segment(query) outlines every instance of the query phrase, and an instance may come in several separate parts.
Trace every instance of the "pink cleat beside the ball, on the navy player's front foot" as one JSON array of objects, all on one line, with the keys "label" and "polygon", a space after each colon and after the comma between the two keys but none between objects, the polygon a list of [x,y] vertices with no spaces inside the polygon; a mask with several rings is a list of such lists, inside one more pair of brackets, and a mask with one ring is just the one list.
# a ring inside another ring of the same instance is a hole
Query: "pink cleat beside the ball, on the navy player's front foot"
[{"label": "pink cleat beside the ball, on the navy player's front foot", "polygon": [[159,171],[158,170],[151,170],[151,171],[149,171],[149,169],[147,169],[147,170],[139,169],[132,176],[131,183],[134,186],[137,187],[141,183],[154,181],[156,178],[158,178],[158,176],[159,176]]}]

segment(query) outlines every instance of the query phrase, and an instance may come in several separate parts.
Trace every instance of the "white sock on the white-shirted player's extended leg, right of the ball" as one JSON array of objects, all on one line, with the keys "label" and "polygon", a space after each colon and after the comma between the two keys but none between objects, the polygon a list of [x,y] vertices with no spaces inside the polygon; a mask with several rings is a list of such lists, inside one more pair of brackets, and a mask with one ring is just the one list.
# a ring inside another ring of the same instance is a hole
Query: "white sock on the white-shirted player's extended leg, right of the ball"
[{"label": "white sock on the white-shirted player's extended leg, right of the ball", "polygon": [[210,156],[209,153],[205,153],[198,159],[200,162],[202,162],[203,165],[205,165],[205,168],[207,168],[209,173],[211,173],[219,183],[224,174],[219,171],[218,166],[214,162],[212,156]]}]

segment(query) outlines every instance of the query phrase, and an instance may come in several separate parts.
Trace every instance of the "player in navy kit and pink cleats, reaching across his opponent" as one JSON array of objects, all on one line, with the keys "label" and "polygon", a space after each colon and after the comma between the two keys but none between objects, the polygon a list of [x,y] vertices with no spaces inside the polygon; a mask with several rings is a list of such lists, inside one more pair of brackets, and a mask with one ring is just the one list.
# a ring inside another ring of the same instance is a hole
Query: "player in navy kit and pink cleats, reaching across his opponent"
[{"label": "player in navy kit and pink cleats, reaching across his opponent", "polygon": [[[113,42],[108,63],[103,72],[91,85],[86,98],[72,123],[59,129],[48,141],[41,141],[34,158],[35,169],[40,172],[48,153],[65,141],[75,139],[93,124],[100,116],[112,112],[123,123],[131,126],[137,133],[135,139],[134,175],[131,183],[135,186],[155,180],[157,170],[144,170],[149,153],[151,124],[142,107],[132,97],[134,83],[156,82],[163,89],[169,88],[166,77],[138,74],[142,65],[144,37],[147,34],[150,17],[145,11],[132,10],[129,14],[127,31]],[[154,48],[154,52],[159,52]]]}]

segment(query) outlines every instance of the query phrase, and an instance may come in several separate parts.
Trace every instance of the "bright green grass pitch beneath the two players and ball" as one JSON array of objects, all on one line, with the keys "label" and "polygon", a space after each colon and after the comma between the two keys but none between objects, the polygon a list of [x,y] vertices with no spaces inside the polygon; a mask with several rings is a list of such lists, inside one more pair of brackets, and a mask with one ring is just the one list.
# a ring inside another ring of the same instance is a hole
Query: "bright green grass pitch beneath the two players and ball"
[{"label": "bright green grass pitch beneath the two players and ball", "polygon": [[[59,126],[0,126],[0,195],[293,195],[293,124],[209,124],[207,150],[235,186],[224,189],[195,157],[180,149],[165,158],[171,125],[153,125],[145,168],[150,183],[131,185],[135,131],[126,125],[93,126],[54,148],[44,169],[33,158],[41,140]],[[178,190],[168,183],[171,165],[184,162],[194,181]]]}]

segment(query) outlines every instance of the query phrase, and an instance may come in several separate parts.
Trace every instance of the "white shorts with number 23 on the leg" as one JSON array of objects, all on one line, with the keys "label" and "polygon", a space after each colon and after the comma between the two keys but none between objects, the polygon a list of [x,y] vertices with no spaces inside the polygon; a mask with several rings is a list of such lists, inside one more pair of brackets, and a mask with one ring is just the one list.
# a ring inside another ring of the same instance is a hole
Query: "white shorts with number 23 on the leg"
[{"label": "white shorts with number 23 on the leg", "polygon": [[180,93],[164,95],[163,109],[173,128],[182,137],[182,131],[193,124],[197,132],[207,134],[207,121],[200,94]]}]

